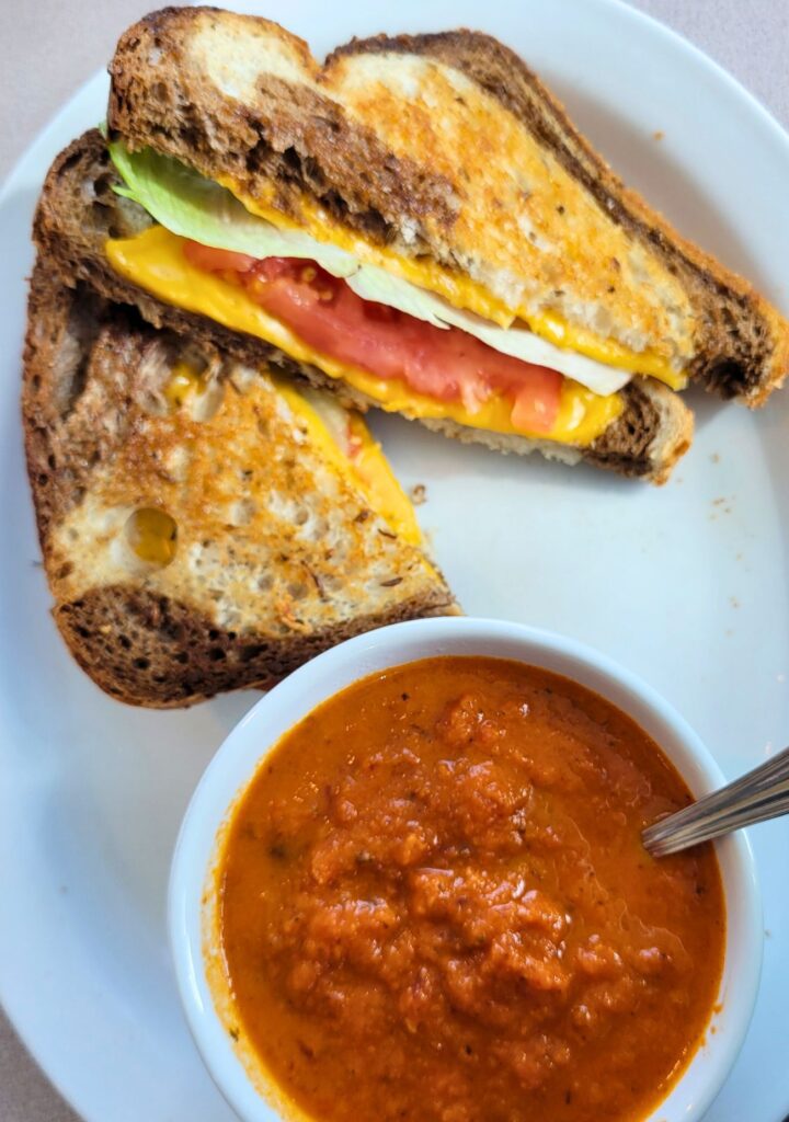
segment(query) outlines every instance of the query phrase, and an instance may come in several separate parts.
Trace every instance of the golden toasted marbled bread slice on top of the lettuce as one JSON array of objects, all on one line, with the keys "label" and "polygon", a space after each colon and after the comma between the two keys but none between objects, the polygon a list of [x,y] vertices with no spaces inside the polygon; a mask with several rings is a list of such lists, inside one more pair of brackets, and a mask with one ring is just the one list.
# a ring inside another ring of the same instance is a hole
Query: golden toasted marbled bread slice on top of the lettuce
[{"label": "golden toasted marbled bread slice on top of the lettuce", "polygon": [[[684,240],[507,47],[467,30],[354,40],[320,67],[265,19],[166,8],[110,66],[110,128],[304,222],[361,232],[762,404],[789,324]],[[479,310],[479,309],[475,309]],[[530,315],[526,315],[530,319]]]}]

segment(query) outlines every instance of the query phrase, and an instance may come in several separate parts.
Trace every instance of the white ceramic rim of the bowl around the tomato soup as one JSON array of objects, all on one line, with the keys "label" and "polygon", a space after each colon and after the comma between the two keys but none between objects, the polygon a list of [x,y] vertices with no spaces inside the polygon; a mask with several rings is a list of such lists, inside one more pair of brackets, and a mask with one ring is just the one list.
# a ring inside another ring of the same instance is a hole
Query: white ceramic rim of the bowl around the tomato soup
[{"label": "white ceramic rim of the bowl around the tomato soup", "polygon": [[[265,1076],[256,1085],[233,1048],[207,980],[204,895],[222,822],[265,755],[321,701],[376,670],[442,654],[514,659],[565,674],[599,692],[644,727],[694,794],[725,782],[698,735],[651,686],[594,647],[542,628],[468,616],[409,620],[346,640],[300,666],[250,708],[215,752],[190,800],[171,865],[167,926],[181,1003],[203,1063],[245,1122],[274,1122],[284,1115],[260,1093]],[[726,901],[719,1012],[672,1089],[643,1122],[700,1120],[725,1083],[751,1022],[763,951],[755,862],[744,831],[716,843],[716,853]],[[299,1109],[285,1116],[288,1122],[306,1118]]]}]

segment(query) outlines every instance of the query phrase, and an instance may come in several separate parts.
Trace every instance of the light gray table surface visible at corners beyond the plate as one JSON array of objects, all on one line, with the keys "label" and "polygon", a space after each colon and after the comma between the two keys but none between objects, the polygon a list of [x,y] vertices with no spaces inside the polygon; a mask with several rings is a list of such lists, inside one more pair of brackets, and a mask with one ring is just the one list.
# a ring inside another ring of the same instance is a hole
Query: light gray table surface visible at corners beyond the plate
[{"label": "light gray table surface visible at corners beyond the plate", "polygon": [[[634,3],[722,63],[789,126],[788,0]],[[122,29],[153,7],[145,0],[102,0],[90,6],[84,0],[0,0],[0,180],[81,82],[105,64]],[[1,1011],[0,1120],[80,1122]]]}]

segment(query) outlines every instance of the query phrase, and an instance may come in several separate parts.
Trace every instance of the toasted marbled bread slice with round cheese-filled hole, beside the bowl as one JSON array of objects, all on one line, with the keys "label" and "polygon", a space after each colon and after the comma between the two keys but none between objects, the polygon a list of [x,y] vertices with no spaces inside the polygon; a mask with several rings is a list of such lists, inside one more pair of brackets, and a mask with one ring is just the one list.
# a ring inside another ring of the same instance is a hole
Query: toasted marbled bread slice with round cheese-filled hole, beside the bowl
[{"label": "toasted marbled bread slice with round cheese-filled hole, beside the bowl", "polygon": [[[163,396],[178,360],[207,364],[191,410]],[[351,635],[457,611],[264,369],[64,287],[40,257],[22,416],[55,622],[121,701],[267,688]],[[140,509],[175,521],[169,563],[132,549]]]}]

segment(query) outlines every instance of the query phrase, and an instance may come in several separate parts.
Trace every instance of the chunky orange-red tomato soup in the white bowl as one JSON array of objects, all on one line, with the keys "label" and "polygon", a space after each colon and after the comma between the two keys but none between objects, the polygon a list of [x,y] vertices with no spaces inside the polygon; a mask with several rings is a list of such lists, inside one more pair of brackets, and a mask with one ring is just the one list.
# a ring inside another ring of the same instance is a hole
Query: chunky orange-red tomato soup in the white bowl
[{"label": "chunky orange-red tomato soup in the white bowl", "polygon": [[723,968],[713,849],[640,840],[689,801],[568,679],[444,657],[359,681],[283,737],[228,826],[229,1030],[321,1122],[643,1119]]}]

